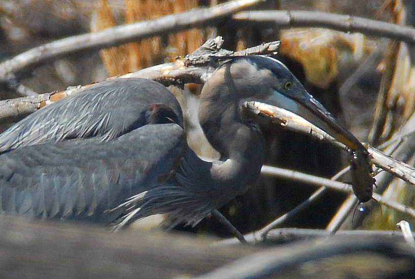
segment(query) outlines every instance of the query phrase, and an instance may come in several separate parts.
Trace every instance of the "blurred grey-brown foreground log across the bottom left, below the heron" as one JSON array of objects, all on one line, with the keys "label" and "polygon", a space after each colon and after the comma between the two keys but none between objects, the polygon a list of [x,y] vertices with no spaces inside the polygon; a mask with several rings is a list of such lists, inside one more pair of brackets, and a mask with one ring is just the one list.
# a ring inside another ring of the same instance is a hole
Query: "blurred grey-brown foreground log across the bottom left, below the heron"
[{"label": "blurred grey-brown foreground log across the bottom left, below the heron", "polygon": [[0,217],[1,278],[173,278],[210,271],[258,248],[218,249],[174,233]]}]

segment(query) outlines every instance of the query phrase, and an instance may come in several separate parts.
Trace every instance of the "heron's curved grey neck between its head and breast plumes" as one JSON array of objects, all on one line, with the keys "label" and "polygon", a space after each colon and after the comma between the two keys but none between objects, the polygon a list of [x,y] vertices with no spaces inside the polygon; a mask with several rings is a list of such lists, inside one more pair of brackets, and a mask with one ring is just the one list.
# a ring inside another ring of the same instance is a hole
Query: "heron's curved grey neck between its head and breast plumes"
[{"label": "heron's curved grey neck between its head and breast plumes", "polygon": [[264,162],[265,141],[256,125],[241,118],[236,104],[222,112],[214,108],[208,111],[209,115],[199,117],[200,124],[221,159],[204,167],[209,169],[206,175],[209,183],[215,185],[216,193],[229,200],[230,194],[245,192],[257,180]]}]

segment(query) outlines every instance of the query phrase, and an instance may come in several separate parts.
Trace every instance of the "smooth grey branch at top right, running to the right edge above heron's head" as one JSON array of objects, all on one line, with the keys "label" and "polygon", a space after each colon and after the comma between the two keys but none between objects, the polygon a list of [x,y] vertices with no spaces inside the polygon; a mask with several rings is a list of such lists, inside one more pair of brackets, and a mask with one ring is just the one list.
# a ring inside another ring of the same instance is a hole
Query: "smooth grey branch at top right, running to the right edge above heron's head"
[{"label": "smooth grey branch at top right, running to the right edge above heron's head", "polygon": [[415,28],[351,15],[308,11],[248,11],[234,15],[233,19],[240,23],[277,28],[326,27],[415,43]]}]

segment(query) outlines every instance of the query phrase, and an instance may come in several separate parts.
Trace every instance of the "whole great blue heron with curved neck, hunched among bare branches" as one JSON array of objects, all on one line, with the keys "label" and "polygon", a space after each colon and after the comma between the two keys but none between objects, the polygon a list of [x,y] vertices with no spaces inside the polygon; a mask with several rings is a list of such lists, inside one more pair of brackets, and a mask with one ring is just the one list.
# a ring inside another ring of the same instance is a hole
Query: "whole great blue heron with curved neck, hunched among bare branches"
[{"label": "whole great blue heron with curved neck, hunched among bare branches", "polygon": [[246,101],[292,111],[365,150],[280,61],[232,58],[203,86],[199,121],[220,160],[186,143],[177,99],[145,79],[101,82],[31,114],[0,135],[0,209],[99,223],[167,214],[195,224],[256,181],[261,129]]}]

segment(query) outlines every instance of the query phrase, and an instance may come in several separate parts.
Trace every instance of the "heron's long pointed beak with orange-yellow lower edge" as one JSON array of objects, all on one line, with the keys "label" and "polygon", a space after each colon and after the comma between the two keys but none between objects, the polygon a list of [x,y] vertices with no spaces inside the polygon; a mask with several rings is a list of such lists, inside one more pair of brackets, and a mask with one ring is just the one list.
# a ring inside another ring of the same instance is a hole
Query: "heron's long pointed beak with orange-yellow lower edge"
[{"label": "heron's long pointed beak with orange-yellow lower edge", "polygon": [[305,89],[289,92],[289,95],[274,90],[266,102],[301,116],[330,134],[349,149],[366,150],[360,141],[348,129],[343,127],[318,100],[308,94]]}]

